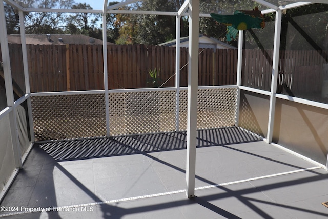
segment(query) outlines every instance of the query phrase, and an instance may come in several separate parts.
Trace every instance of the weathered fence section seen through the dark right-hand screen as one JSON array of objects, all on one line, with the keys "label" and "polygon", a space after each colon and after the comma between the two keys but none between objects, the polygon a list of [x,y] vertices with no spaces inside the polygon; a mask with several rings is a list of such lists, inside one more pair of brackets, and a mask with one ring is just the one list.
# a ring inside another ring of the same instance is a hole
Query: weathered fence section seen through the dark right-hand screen
[{"label": "weathered fence section seen through the dark right-hand screen", "polygon": [[[245,49],[243,57],[242,85],[270,91],[273,50]],[[327,59],[327,51],[281,50],[277,92],[321,92],[322,81],[328,79]]]}]

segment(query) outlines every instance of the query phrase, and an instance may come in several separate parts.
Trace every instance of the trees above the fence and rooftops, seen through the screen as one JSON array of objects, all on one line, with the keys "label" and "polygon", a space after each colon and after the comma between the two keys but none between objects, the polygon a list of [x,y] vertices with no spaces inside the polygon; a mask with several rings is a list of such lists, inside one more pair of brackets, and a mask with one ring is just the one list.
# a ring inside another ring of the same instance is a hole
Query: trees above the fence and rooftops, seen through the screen
[{"label": "trees above the fence and rooftops, seen through the screen", "polygon": [[[185,0],[137,1],[117,10],[145,10],[176,12]],[[15,1],[16,2],[16,1]],[[109,2],[109,5],[121,1]],[[92,9],[74,0],[26,0],[17,2],[24,7],[58,9]],[[253,0],[200,0],[200,13],[231,15],[235,10],[267,9]],[[19,34],[19,16],[4,2],[8,34]],[[25,12],[26,34],[84,34],[102,39],[100,14]],[[328,4],[310,4],[284,11],[281,27],[282,49],[328,49]],[[265,15],[263,30],[244,31],[245,48],[273,48],[275,13]],[[117,44],[157,45],[175,39],[175,16],[108,14],[107,41]],[[226,25],[212,18],[200,17],[199,33],[226,40]],[[188,36],[188,16],[181,17],[181,37]],[[229,42],[237,46],[237,39]]]}]

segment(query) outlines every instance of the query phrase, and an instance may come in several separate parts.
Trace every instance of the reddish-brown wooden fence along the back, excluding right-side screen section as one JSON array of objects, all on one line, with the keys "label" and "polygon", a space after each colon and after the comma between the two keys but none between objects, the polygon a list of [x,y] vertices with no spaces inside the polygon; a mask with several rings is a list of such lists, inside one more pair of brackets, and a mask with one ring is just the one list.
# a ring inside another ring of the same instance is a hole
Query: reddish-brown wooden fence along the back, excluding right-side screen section
[{"label": "reddish-brown wooden fence along the back, excluding right-side screen section", "polygon": [[[22,57],[19,44],[11,56]],[[27,45],[31,92],[103,90],[103,45]],[[107,45],[108,88],[154,87],[149,70],[159,70],[161,87],[175,86],[175,48]],[[14,74],[22,59],[11,58]],[[180,49],[180,86],[188,85],[188,48]],[[236,83],[237,50],[199,49],[199,86]]]}]

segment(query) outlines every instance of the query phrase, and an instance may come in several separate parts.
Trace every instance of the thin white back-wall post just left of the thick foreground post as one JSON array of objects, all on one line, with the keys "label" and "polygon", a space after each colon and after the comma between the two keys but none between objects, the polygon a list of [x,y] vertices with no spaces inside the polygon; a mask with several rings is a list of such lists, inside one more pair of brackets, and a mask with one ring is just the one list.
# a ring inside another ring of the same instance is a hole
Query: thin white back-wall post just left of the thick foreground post
[{"label": "thin white back-wall post just left of the thick foreground post", "polygon": [[180,25],[181,17],[176,16],[176,43],[175,43],[175,89],[176,89],[176,100],[175,100],[175,130],[179,131],[179,110],[180,110]]}]

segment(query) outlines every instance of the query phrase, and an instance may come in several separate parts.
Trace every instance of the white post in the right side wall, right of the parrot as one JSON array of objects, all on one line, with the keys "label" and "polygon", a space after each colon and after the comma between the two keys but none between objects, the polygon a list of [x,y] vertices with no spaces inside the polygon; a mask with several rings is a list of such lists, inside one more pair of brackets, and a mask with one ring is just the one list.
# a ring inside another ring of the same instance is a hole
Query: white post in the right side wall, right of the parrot
[{"label": "white post in the right side wall, right of the parrot", "polygon": [[269,122],[268,122],[268,134],[267,134],[268,143],[272,142],[272,137],[273,137],[273,125],[274,125],[277,81],[278,81],[278,71],[279,71],[278,67],[279,67],[281,16],[282,16],[282,11],[279,9],[276,11],[276,21],[275,21],[275,36],[274,36],[273,63],[272,63],[272,76],[271,76],[271,96],[270,96]]}]

